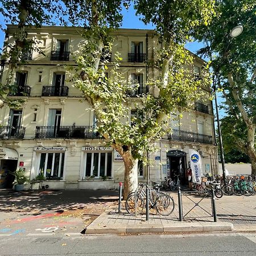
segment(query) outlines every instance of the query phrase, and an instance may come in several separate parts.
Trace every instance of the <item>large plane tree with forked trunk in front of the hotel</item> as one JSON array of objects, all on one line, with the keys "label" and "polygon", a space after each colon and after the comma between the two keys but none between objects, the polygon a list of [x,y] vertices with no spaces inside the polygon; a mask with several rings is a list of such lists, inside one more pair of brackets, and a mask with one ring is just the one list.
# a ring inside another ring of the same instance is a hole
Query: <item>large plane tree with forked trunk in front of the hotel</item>
[{"label": "large plane tree with forked trunk in front of the hotel", "polygon": [[[108,20],[101,15],[106,6],[96,0],[86,5],[89,6],[83,8],[91,11],[90,15],[86,14],[88,23],[82,34],[85,41],[80,44],[78,67],[70,73],[71,81],[92,106],[98,120],[97,129],[105,142],[123,157],[126,198],[137,187],[138,159],[144,159],[144,152],[153,150],[153,142],[167,132],[170,113],[191,108],[192,102],[202,96],[202,87],[209,85],[207,73],[201,80],[195,80],[191,70],[185,68],[191,66],[193,57],[183,44],[191,31],[208,22],[213,13],[213,1],[135,1],[143,21],[156,24],[159,45],[163,45],[154,63],[159,76],[148,81],[149,86],[158,89],[158,95],[142,94],[135,105],[127,96],[127,91],[134,88],[123,82],[119,57],[111,68],[104,58],[112,47],[110,31],[105,26]],[[105,60],[100,64],[101,56]],[[130,123],[131,105],[137,115]]]}]

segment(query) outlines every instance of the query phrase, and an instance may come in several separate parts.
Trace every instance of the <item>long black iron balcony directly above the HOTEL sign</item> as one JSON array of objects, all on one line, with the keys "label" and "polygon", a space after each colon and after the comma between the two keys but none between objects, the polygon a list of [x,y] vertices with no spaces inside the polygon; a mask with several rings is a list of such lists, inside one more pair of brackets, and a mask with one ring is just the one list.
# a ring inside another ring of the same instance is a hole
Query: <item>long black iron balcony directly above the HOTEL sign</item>
[{"label": "long black iron balcony directly above the HOTEL sign", "polygon": [[36,126],[35,138],[102,139],[95,126]]}]

